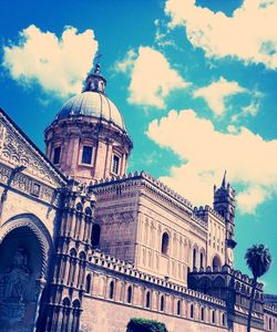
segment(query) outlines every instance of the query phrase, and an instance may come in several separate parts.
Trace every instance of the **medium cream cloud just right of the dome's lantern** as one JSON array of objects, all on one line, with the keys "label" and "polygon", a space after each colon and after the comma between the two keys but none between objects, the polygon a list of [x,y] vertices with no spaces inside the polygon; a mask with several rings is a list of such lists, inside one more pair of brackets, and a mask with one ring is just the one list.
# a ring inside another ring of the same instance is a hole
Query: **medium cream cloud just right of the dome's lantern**
[{"label": "medium cream cloud just right of the dome's lantern", "polygon": [[116,62],[115,69],[130,72],[129,102],[132,104],[164,108],[165,98],[173,90],[188,86],[165,56],[148,46],[140,46],[136,56],[134,51],[129,51],[123,61]]}]

